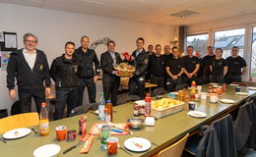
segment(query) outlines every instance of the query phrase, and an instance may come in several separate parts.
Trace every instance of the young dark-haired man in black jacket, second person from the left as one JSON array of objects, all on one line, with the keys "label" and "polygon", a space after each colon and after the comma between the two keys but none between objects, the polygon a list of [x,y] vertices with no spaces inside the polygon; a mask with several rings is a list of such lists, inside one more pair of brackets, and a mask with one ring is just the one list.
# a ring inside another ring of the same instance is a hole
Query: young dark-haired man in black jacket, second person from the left
[{"label": "young dark-haired man in black jacket, second person from the left", "polygon": [[54,120],[63,118],[65,106],[67,104],[67,116],[78,106],[78,89],[80,79],[78,77],[79,62],[73,57],[75,43],[65,44],[65,54],[53,60],[50,68],[50,76],[55,81],[56,104]]}]

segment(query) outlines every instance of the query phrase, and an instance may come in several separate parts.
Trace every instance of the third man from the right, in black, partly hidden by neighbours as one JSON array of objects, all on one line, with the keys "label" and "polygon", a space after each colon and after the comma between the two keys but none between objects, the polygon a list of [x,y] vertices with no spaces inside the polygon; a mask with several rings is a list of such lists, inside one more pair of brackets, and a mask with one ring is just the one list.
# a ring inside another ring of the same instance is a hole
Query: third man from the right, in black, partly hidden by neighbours
[{"label": "third man from the right, in black, partly hidden by neighbours", "polygon": [[210,82],[210,64],[213,62],[215,59],[215,54],[214,54],[214,47],[213,46],[208,46],[207,48],[207,55],[202,59],[200,69],[202,69],[203,72],[203,81],[204,83],[209,83]]}]

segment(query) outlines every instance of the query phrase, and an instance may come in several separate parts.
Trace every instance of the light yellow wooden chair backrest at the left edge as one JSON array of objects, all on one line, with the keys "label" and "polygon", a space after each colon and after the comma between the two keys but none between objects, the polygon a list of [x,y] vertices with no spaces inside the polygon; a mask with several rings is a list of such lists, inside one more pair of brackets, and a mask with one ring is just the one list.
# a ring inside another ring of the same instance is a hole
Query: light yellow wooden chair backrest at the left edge
[{"label": "light yellow wooden chair backrest at the left edge", "polygon": [[0,119],[0,133],[37,125],[39,125],[39,116],[37,112],[9,116]]}]

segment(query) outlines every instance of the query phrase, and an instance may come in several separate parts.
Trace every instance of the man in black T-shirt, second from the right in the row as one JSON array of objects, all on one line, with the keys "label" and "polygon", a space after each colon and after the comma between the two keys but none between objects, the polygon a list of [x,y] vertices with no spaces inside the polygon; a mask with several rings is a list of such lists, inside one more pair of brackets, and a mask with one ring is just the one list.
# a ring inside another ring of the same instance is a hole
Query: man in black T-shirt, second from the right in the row
[{"label": "man in black T-shirt, second from the right in the row", "polygon": [[223,49],[217,48],[215,51],[215,59],[210,65],[212,82],[224,83],[224,76],[227,72],[227,66],[225,60],[222,58]]}]

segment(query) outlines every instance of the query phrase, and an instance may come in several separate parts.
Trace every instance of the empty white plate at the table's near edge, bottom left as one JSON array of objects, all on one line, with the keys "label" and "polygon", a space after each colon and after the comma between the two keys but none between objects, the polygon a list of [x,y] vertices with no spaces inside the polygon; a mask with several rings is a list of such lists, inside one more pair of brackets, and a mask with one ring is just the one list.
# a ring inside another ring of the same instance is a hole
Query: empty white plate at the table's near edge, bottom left
[{"label": "empty white plate at the table's near edge, bottom left", "polygon": [[60,152],[60,146],[57,144],[46,144],[36,148],[33,151],[34,157],[54,157]]}]

